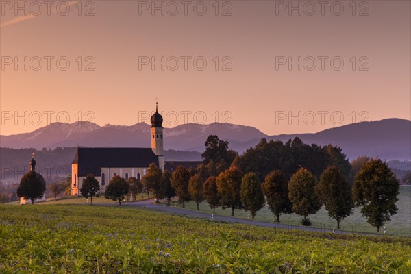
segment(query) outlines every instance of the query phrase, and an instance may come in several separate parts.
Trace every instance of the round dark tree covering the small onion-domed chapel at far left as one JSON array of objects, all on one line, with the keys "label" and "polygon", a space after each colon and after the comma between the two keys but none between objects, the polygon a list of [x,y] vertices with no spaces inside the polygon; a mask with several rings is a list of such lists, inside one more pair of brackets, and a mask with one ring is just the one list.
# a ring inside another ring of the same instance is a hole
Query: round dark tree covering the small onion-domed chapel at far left
[{"label": "round dark tree covering the small onion-domed chapel at far left", "polygon": [[46,182],[42,175],[36,171],[29,171],[21,177],[17,188],[17,196],[30,199],[32,204],[35,199],[41,199],[46,192]]}]

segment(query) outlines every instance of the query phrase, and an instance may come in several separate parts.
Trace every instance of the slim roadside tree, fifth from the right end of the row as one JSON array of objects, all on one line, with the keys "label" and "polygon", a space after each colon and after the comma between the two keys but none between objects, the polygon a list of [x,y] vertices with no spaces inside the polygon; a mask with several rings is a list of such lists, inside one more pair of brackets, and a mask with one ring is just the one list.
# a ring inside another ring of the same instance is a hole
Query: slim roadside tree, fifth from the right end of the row
[{"label": "slim roadside tree, fifth from the right end of the row", "polygon": [[256,212],[265,204],[264,193],[261,182],[256,173],[246,173],[241,179],[241,202],[242,207],[251,212],[254,219]]}]

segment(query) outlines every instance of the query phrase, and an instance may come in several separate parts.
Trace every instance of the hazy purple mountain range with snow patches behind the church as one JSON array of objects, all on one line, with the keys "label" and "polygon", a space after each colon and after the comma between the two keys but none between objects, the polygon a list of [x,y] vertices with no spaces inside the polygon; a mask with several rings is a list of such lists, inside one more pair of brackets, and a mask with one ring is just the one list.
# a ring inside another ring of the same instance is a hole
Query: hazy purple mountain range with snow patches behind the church
[{"label": "hazy purple mountain range with snow patches behind the church", "polygon": [[[164,149],[204,151],[210,134],[229,141],[229,147],[242,153],[261,138],[281,140],[299,137],[303,142],[337,145],[348,158],[358,155],[384,160],[411,160],[411,121],[384,119],[325,129],[315,134],[281,134],[268,136],[255,127],[230,123],[209,125],[184,124],[164,128]],[[149,147],[150,128],[146,123],[136,125],[105,125],[95,123],[52,123],[34,132],[0,136],[0,147],[35,149],[55,147]]]}]

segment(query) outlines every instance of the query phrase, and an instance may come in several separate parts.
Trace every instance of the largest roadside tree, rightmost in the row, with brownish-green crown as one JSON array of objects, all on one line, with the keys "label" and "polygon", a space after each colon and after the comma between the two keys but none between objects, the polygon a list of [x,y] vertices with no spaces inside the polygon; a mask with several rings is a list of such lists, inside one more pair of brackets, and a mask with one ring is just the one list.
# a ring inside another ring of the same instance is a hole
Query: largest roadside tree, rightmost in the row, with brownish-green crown
[{"label": "largest roadside tree, rightmost in the row, with brownish-green crown", "polygon": [[379,228],[397,213],[399,181],[386,162],[369,160],[358,172],[353,186],[353,199],[371,225]]}]

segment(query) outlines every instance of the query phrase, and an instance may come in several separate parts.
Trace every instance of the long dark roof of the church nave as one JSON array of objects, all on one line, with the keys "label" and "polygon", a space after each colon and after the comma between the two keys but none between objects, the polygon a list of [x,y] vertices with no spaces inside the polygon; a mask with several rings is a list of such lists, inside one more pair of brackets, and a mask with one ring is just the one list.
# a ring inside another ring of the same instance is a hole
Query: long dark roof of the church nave
[{"label": "long dark roof of the church nave", "polygon": [[136,147],[79,147],[72,164],[78,164],[78,176],[101,176],[102,167],[158,166],[158,156],[150,148]]}]

